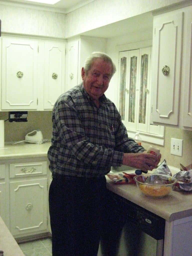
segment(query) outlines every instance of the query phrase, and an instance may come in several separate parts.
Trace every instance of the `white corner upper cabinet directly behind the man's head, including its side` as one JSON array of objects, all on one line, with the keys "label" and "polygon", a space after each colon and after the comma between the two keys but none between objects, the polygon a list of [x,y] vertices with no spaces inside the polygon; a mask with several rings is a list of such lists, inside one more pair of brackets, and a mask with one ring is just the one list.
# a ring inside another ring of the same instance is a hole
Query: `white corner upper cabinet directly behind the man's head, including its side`
[{"label": "white corner upper cabinet directly behind the man's head, including its side", "polygon": [[106,52],[106,39],[81,36],[67,42],[66,91],[82,82],[81,69],[93,51]]}]

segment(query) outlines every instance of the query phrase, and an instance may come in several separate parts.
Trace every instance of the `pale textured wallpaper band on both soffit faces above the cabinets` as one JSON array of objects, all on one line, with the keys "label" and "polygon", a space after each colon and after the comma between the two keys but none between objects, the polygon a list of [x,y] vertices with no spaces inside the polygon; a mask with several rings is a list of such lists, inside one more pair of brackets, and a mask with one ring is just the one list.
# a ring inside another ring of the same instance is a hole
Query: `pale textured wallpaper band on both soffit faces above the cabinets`
[{"label": "pale textured wallpaper band on both soffit faces above the cabinets", "polygon": [[[95,0],[68,14],[0,4],[2,32],[69,38],[182,0]],[[53,9],[54,10],[54,9]]]}]

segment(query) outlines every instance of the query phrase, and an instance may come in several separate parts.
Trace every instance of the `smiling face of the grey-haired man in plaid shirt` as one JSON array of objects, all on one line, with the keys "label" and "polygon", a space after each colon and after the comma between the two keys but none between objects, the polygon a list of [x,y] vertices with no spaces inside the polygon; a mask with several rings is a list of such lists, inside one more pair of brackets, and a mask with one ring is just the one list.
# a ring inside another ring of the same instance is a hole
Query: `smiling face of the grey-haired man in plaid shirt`
[{"label": "smiling face of the grey-haired man in plaid shirt", "polygon": [[93,100],[98,100],[107,90],[111,80],[112,65],[97,58],[93,61],[88,74],[85,74],[84,68],[81,70],[81,77],[86,92]]}]

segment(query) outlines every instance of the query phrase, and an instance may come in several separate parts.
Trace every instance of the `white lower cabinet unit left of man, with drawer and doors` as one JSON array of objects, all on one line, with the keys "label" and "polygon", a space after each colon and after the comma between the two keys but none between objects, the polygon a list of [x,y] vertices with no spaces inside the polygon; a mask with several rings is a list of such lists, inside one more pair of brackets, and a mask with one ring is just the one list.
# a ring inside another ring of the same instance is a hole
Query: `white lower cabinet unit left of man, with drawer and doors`
[{"label": "white lower cabinet unit left of man, with drawer and doors", "polygon": [[17,239],[50,234],[47,157],[1,160],[0,215]]}]

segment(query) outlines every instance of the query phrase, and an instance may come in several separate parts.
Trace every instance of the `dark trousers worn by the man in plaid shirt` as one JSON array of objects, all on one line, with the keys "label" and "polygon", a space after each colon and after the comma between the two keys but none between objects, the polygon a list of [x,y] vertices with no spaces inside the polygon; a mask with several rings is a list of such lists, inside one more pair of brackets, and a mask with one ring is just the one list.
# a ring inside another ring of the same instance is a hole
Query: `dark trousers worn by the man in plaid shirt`
[{"label": "dark trousers worn by the man in plaid shirt", "polygon": [[97,256],[106,179],[53,178],[49,189],[52,256]]}]

